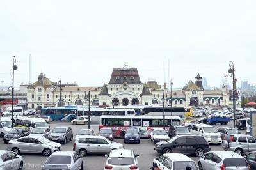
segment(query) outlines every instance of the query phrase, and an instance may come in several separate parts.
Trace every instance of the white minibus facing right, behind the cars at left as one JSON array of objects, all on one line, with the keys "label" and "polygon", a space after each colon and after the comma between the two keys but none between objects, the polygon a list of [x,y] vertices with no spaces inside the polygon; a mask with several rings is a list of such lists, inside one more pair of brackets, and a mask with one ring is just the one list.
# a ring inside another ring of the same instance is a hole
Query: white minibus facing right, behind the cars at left
[{"label": "white minibus facing right, behind the cars at left", "polygon": [[18,116],[15,121],[15,127],[49,127],[46,121],[42,118],[31,118],[28,116]]}]

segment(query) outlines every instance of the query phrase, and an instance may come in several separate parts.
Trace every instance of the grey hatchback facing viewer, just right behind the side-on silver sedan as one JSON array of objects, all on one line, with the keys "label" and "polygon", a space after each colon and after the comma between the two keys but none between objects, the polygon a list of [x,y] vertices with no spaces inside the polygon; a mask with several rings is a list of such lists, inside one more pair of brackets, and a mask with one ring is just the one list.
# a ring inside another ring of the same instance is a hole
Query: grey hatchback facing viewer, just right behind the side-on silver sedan
[{"label": "grey hatchback facing viewer, just right behind the side-on silver sedan", "polygon": [[66,144],[67,141],[72,141],[73,131],[71,127],[56,127],[52,130],[51,134],[47,137],[51,141]]}]

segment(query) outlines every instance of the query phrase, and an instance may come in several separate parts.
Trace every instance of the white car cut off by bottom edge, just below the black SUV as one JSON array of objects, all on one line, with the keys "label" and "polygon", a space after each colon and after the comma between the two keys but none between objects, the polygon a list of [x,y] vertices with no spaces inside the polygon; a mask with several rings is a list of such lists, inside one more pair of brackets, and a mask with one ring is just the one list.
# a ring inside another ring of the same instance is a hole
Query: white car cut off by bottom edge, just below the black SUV
[{"label": "white car cut off by bottom edge, just below the black SUV", "polygon": [[163,154],[153,160],[153,167],[155,164],[161,170],[187,169],[187,167],[191,170],[198,170],[194,160],[181,153]]}]

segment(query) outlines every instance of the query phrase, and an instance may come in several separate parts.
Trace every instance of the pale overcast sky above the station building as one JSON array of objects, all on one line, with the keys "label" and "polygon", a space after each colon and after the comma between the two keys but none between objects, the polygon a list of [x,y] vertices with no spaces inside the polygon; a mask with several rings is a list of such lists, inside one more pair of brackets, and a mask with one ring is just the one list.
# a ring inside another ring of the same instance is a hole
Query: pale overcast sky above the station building
[{"label": "pale overcast sky above the station building", "polygon": [[[0,1],[0,79],[40,73],[79,86],[108,83],[113,68],[138,68],[182,88],[196,74],[220,86],[234,62],[238,86],[256,84],[256,1]],[[231,78],[228,78],[231,82]]]}]

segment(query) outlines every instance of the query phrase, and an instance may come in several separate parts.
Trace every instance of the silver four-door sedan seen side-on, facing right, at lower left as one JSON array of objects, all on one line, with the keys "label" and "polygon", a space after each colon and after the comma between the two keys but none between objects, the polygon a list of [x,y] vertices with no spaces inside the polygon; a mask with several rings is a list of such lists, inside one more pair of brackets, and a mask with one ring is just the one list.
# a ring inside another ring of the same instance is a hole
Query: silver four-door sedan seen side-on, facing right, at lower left
[{"label": "silver four-door sedan seen side-on, facing right, at lower left", "polygon": [[49,156],[56,151],[61,150],[60,143],[54,143],[45,137],[20,137],[9,141],[6,150],[13,151],[14,153],[41,153]]}]

